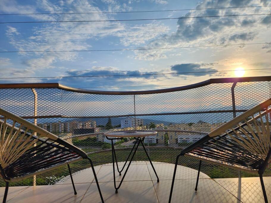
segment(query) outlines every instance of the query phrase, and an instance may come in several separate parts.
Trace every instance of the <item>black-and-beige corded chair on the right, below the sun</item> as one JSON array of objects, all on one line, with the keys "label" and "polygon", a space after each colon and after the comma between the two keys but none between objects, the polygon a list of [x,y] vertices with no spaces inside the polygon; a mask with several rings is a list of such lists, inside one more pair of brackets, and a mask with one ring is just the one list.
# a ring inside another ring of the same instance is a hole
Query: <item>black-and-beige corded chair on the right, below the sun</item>
[{"label": "black-and-beige corded chair on the right, below the sun", "polygon": [[182,150],[176,158],[170,189],[171,201],[178,159],[180,156],[206,161],[249,173],[259,173],[264,201],[268,202],[263,172],[271,162],[271,98],[216,128],[208,135]]}]

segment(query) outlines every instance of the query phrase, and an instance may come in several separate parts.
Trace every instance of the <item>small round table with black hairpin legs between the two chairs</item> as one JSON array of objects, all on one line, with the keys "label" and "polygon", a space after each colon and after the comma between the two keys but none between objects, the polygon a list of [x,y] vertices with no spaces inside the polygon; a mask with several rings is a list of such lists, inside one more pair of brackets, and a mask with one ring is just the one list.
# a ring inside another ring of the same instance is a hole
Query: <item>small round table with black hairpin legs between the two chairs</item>
[{"label": "small round table with black hairpin legs between the two chairs", "polygon": [[[133,160],[133,158],[134,158],[135,153],[137,152],[137,148],[138,148],[139,144],[142,145],[142,147],[143,147],[143,149],[144,149],[144,151],[145,151],[145,153],[146,153],[146,155],[147,155],[147,157],[148,157],[148,160],[149,160],[150,163],[151,163],[151,158],[150,158],[150,156],[148,155],[148,152],[147,152],[147,150],[146,150],[146,148],[145,148],[145,145],[144,145],[144,139],[145,139],[146,136],[155,136],[156,134],[157,134],[157,132],[154,131],[154,130],[114,130],[114,131],[107,131],[107,132],[104,133],[104,136],[106,136],[106,138],[107,138],[108,140],[111,140],[111,146],[112,146],[112,163],[113,163],[113,175],[114,175],[114,187],[115,187],[115,189],[116,189],[116,191],[115,191],[116,193],[118,193],[118,189],[120,188],[120,185],[121,185],[122,182],[123,182],[123,179],[124,179],[124,177],[125,177],[125,175],[126,175],[128,169],[129,169],[129,166],[131,165],[131,162],[132,162],[132,160]],[[115,152],[115,147],[114,147],[114,142],[113,142],[113,140],[116,140],[116,139],[122,139],[122,138],[124,138],[124,137],[134,137],[134,139],[135,139],[136,141],[134,142],[134,146],[133,146],[133,148],[132,148],[132,150],[131,150],[129,156],[127,157],[127,159],[126,159],[126,161],[125,161],[125,163],[124,163],[122,169],[119,170],[119,167],[118,167],[118,161],[117,161],[117,156],[116,156],[116,152]],[[134,148],[135,148],[135,150],[134,150]],[[122,177],[122,179],[121,179],[121,181],[120,181],[119,186],[116,187],[116,178],[115,178],[115,160],[116,160],[116,166],[117,166],[119,175],[121,175],[121,172],[123,171],[124,167],[126,166],[126,163],[127,163],[127,161],[129,160],[129,158],[130,158],[130,156],[131,156],[133,150],[134,150],[134,153],[133,153],[133,155],[132,155],[132,157],[131,157],[131,160],[129,161],[129,164],[128,164],[127,168],[126,168],[126,171],[124,172],[124,175],[123,175],[123,177]],[[158,178],[158,176],[157,176],[157,173],[156,173],[156,171],[155,171],[154,166],[153,166],[152,163],[151,163],[151,166],[152,166],[153,171],[154,171],[154,173],[155,173],[155,175],[156,175],[156,177],[157,177],[157,182],[159,182],[159,178]]]}]

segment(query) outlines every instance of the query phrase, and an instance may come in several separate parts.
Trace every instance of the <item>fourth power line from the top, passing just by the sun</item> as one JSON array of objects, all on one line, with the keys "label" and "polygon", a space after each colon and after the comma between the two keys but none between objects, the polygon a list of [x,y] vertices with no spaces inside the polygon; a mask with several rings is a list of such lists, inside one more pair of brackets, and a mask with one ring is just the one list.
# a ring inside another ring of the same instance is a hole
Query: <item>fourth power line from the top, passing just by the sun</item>
[{"label": "fourth power line from the top, passing just by the sun", "polygon": [[[248,70],[271,70],[271,68],[246,69]],[[85,77],[114,77],[114,76],[142,76],[142,75],[173,75],[173,74],[189,74],[189,73],[218,73],[231,72],[236,70],[214,70],[199,72],[181,72],[181,73],[148,73],[148,74],[132,74],[132,75],[79,75],[79,76],[51,76],[51,77],[16,77],[16,78],[0,78],[0,79],[24,79],[24,78],[85,78]],[[245,71],[245,70],[244,70]]]}]

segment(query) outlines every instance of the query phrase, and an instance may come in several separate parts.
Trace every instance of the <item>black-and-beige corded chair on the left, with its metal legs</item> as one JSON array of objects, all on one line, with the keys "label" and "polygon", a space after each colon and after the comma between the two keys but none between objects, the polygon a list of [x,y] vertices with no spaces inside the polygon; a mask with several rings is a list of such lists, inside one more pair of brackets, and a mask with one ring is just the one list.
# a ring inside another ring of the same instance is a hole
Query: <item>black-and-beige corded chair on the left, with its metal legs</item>
[{"label": "black-and-beige corded chair on the left, with its metal legs", "polygon": [[79,148],[54,134],[0,108],[0,174],[6,182],[3,202],[6,202],[10,181],[68,165],[74,194],[76,189],[70,163],[88,159],[104,202],[91,159]]}]

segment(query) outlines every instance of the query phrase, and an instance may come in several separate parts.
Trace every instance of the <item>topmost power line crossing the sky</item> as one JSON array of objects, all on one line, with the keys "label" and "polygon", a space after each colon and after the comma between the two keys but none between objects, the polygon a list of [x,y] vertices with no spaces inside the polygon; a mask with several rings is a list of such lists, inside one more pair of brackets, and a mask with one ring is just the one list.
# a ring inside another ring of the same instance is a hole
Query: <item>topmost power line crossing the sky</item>
[{"label": "topmost power line crossing the sky", "polygon": [[239,7],[218,7],[218,8],[195,8],[195,9],[175,9],[175,10],[152,10],[152,11],[119,11],[119,12],[72,12],[72,13],[11,13],[0,15],[52,15],[52,14],[101,14],[101,13],[143,13],[143,12],[168,12],[168,11],[191,11],[191,10],[208,10],[208,9],[231,9],[231,8],[257,8],[271,6],[239,6]]}]

